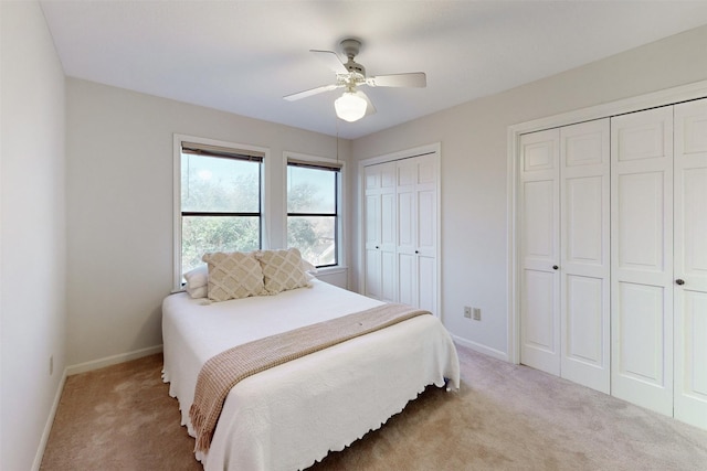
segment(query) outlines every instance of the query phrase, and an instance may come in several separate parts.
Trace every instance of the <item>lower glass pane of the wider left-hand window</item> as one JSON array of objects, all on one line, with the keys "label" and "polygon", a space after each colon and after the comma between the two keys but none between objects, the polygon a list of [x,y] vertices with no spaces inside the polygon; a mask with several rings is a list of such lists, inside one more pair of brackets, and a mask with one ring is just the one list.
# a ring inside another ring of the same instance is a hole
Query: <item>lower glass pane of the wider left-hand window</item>
[{"label": "lower glass pane of the wider left-hand window", "polygon": [[260,248],[257,216],[182,216],[181,272],[202,265],[208,251],[250,251]]}]

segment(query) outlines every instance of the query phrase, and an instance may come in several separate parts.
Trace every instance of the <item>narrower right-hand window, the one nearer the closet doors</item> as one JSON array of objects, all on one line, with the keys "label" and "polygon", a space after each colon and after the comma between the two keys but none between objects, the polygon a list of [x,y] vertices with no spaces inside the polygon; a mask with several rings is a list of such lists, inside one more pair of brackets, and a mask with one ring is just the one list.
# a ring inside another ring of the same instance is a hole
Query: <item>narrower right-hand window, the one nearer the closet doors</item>
[{"label": "narrower right-hand window, the one nearer the closet doors", "polygon": [[316,267],[339,264],[341,164],[287,160],[287,246]]}]

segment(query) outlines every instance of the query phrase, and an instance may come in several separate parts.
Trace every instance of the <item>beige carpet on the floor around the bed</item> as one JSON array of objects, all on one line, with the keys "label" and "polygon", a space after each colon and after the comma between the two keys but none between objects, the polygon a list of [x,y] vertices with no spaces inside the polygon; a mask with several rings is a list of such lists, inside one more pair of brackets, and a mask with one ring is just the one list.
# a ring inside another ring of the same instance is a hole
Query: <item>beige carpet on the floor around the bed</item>
[{"label": "beige carpet on the floor around the bed", "polygon": [[[429,388],[310,471],[707,470],[707,431],[458,347],[458,393]],[[161,355],[71,376],[42,470],[200,470]]]}]

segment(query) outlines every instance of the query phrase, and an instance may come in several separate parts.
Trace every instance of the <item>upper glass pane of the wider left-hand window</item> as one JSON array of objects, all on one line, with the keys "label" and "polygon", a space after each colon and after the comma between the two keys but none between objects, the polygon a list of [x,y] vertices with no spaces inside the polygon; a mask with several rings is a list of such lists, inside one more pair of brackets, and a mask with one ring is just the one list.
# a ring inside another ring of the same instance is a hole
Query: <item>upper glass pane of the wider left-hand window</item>
[{"label": "upper glass pane of the wider left-hand window", "polygon": [[260,212],[260,162],[182,153],[182,212]]}]

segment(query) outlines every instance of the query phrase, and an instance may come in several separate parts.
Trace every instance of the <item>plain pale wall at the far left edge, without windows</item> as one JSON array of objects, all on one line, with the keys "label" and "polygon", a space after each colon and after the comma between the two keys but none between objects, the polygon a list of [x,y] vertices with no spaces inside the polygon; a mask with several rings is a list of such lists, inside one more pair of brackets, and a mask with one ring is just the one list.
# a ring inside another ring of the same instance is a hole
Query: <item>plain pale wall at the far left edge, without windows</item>
[{"label": "plain pale wall at the far left edge, without windows", "polygon": [[30,470],[65,365],[64,74],[39,4],[0,17],[0,468]]}]

